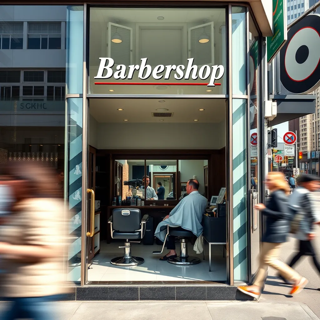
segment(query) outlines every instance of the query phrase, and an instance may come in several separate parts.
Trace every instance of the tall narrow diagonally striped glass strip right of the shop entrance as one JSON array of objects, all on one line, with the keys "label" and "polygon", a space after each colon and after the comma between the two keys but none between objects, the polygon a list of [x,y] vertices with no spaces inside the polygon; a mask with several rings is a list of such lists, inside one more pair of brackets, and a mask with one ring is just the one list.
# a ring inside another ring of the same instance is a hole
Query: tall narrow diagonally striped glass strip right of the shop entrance
[{"label": "tall narrow diagonally striped glass strip right of the shop entrance", "polygon": [[[246,9],[232,8],[232,89],[246,94]],[[232,99],[234,281],[248,280],[247,100]]]}]

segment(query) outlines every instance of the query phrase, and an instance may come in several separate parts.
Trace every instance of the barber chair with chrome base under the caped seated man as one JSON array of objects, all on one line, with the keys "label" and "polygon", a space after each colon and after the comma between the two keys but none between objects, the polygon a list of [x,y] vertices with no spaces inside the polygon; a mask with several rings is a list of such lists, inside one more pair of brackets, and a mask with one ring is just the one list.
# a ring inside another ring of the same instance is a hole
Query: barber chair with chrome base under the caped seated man
[{"label": "barber chair with chrome base under the caped seated man", "polygon": [[164,244],[162,246],[161,251],[154,251],[152,253],[159,254],[163,252],[165,242],[167,240],[167,236],[176,236],[180,238],[180,256],[174,259],[167,260],[169,263],[176,264],[179,266],[189,266],[193,264],[200,263],[200,259],[198,257],[192,257],[188,255],[188,238],[193,237],[194,234],[191,231],[182,229],[181,227],[167,227],[167,234],[164,239]]}]

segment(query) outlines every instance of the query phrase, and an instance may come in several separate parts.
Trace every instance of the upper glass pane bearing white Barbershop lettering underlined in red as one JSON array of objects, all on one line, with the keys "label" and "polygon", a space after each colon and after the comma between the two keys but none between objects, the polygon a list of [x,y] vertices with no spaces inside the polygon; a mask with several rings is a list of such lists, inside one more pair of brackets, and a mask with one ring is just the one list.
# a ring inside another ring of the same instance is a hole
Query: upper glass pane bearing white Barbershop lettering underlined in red
[{"label": "upper glass pane bearing white Barbershop lettering underlined in red", "polygon": [[226,94],[225,17],[223,8],[91,8],[89,93]]}]

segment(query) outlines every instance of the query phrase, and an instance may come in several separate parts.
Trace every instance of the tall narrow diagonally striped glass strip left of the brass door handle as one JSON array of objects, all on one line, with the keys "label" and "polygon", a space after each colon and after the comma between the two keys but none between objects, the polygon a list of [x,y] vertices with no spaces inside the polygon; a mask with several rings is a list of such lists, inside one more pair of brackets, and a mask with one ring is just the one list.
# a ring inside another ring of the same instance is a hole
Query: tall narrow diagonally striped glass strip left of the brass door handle
[{"label": "tall narrow diagonally striped glass strip left of the brass door handle", "polygon": [[[69,6],[67,10],[67,87],[68,94],[83,92],[83,43],[84,7]],[[67,99],[68,153],[67,181],[72,239],[69,246],[68,278],[79,281],[81,278],[81,225],[82,225],[82,133],[83,99]]]}]

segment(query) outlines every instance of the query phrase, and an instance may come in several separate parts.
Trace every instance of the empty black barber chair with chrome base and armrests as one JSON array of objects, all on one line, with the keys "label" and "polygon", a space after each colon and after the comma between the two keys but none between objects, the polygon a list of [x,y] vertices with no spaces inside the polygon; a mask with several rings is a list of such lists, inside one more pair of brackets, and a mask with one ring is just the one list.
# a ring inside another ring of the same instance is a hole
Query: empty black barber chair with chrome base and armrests
[{"label": "empty black barber chair with chrome base and armrests", "polygon": [[148,220],[148,214],[145,214],[141,220],[141,212],[139,209],[114,209],[112,216],[109,218],[110,231],[112,239],[125,239],[124,256],[117,257],[111,260],[111,264],[120,267],[137,266],[144,262],[141,257],[131,255],[131,241],[129,239],[142,239],[146,231],[145,224]]}]

